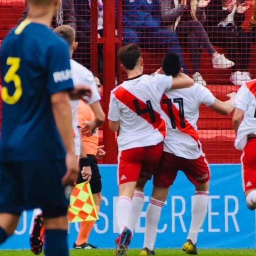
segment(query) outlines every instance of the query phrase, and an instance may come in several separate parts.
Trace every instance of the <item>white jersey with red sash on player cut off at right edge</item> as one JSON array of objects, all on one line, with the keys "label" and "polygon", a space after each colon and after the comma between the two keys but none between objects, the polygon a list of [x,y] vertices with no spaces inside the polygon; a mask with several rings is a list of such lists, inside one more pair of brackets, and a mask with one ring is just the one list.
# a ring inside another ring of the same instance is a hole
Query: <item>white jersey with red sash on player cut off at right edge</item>
[{"label": "white jersey with red sash on player cut off at right edge", "polygon": [[244,111],[244,118],[239,125],[235,140],[235,147],[243,150],[247,143],[247,135],[256,135],[256,79],[242,84],[233,106]]}]

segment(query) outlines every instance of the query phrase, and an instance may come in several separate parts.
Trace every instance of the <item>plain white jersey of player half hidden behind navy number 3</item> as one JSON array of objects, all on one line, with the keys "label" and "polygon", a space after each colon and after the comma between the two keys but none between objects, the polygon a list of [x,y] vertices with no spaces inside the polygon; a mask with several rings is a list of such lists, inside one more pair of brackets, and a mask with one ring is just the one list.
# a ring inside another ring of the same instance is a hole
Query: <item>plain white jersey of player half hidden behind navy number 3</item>
[{"label": "plain white jersey of player half hidden behind navy number 3", "polygon": [[[92,72],[76,62],[75,60],[70,60],[71,66],[71,73],[74,85],[88,85],[92,89],[92,98],[88,100],[88,104],[91,105],[92,103],[100,100],[100,94],[97,90],[96,83],[94,81],[94,77]],[[87,99],[86,99],[87,100]],[[75,133],[75,148],[76,148],[76,156],[80,156],[80,148],[81,148],[81,137],[78,130],[78,122],[76,118],[76,109],[78,106],[79,100],[71,100],[71,108],[72,108],[72,116],[73,116],[73,131]]]}]

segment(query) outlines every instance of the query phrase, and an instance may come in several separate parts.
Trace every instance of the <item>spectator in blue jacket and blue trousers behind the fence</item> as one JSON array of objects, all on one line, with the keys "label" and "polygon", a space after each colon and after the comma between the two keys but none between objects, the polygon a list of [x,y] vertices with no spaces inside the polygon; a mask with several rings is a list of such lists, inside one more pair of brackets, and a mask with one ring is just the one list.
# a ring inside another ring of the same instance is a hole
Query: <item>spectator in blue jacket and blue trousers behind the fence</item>
[{"label": "spectator in blue jacket and blue trousers behind the fence", "polygon": [[179,54],[184,73],[188,69],[183,59],[177,34],[161,27],[158,0],[123,0],[123,43],[137,43],[140,47],[154,47]]}]

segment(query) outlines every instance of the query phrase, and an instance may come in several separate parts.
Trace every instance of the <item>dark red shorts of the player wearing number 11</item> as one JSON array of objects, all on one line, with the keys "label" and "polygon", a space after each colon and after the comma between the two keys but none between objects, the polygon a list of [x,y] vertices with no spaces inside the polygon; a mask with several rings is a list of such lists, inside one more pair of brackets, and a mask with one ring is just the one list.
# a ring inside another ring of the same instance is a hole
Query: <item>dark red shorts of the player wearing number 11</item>
[{"label": "dark red shorts of the player wearing number 11", "polygon": [[183,171],[195,186],[210,180],[210,169],[204,154],[197,159],[186,159],[164,152],[159,169],[154,175],[154,185],[169,188],[179,170]]}]

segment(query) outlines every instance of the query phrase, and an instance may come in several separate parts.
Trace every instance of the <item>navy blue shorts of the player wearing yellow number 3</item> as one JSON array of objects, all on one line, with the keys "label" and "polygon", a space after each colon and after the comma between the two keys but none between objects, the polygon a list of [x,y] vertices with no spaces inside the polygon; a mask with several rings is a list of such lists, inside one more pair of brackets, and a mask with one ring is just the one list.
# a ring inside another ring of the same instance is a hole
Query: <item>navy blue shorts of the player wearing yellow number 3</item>
[{"label": "navy blue shorts of the player wearing yellow number 3", "polygon": [[34,208],[67,208],[61,179],[65,160],[0,163],[0,212],[20,214]]}]

